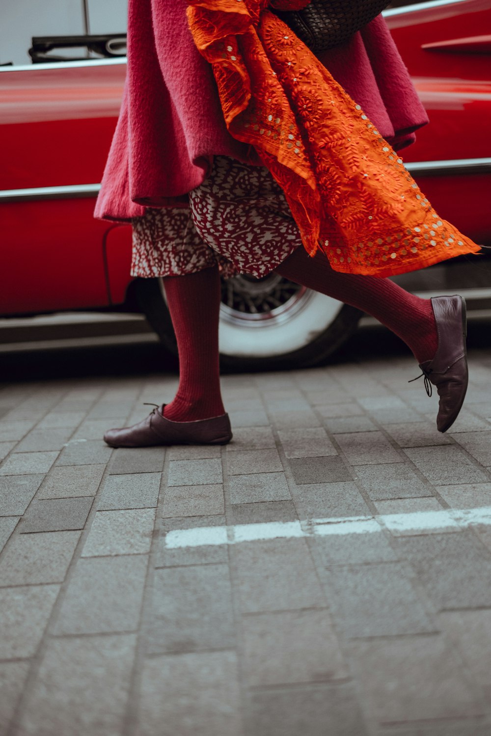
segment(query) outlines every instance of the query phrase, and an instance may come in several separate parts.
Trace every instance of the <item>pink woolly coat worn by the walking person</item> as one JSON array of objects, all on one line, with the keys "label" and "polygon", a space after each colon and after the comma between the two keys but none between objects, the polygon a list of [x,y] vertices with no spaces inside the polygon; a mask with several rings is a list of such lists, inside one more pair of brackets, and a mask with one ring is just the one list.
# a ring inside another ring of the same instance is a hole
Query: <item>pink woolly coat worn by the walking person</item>
[{"label": "pink woolly coat worn by the walking person", "polygon": [[[102,188],[99,219],[129,220],[145,207],[187,202],[213,155],[260,163],[225,127],[211,66],[199,54],[186,0],[130,0],[127,79]],[[428,122],[384,19],[320,60],[392,146]]]}]

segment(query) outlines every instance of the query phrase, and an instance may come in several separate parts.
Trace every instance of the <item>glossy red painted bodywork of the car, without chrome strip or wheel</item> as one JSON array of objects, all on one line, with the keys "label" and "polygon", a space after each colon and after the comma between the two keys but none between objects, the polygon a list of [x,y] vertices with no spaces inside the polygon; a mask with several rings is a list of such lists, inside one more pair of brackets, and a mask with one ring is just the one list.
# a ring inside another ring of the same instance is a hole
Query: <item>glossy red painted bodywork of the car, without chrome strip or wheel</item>
[{"label": "glossy red painted bodywork of the car, without chrome strip or wheel", "polygon": [[[490,157],[491,0],[434,6],[387,15],[431,119],[403,158]],[[125,71],[124,64],[110,62],[4,68],[0,194],[98,183]],[[443,217],[481,243],[491,242],[491,174],[425,177],[419,183]],[[97,222],[93,205],[93,196],[0,199],[0,314],[124,301],[131,280],[130,226]]]}]

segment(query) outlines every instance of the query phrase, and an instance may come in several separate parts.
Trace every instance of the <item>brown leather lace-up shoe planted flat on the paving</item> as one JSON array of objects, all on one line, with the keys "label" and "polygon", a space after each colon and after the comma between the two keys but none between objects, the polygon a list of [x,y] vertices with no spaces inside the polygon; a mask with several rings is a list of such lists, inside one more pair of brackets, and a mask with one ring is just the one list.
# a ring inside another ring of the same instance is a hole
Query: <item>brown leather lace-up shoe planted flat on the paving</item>
[{"label": "brown leather lace-up shoe planted flat on the paving", "polygon": [[163,417],[163,407],[133,427],[110,429],[104,440],[110,447],[155,447],[155,445],[227,445],[232,439],[228,414],[198,422],[172,422]]}]

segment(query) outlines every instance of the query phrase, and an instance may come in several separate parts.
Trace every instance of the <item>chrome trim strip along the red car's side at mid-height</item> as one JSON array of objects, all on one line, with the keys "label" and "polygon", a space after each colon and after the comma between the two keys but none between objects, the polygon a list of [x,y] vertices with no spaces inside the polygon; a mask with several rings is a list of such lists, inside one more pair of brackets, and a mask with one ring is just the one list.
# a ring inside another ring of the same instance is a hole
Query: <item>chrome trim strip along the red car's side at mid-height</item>
[{"label": "chrome trim strip along the red car's side at mid-height", "polygon": [[[414,177],[438,177],[458,174],[491,174],[491,158],[462,158],[446,161],[409,161],[406,169]],[[0,202],[26,202],[40,199],[75,199],[96,197],[100,184],[40,186],[0,190]]]}]

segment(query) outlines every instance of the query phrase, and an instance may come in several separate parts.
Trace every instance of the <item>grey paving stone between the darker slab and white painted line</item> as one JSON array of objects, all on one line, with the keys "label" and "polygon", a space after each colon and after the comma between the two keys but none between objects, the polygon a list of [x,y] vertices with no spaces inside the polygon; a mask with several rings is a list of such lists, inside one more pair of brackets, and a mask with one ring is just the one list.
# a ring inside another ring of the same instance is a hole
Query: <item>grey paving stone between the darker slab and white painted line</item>
[{"label": "grey paving stone between the darker slab and white painted line", "polygon": [[298,486],[294,491],[302,519],[371,515],[354,483],[318,483]]}]

